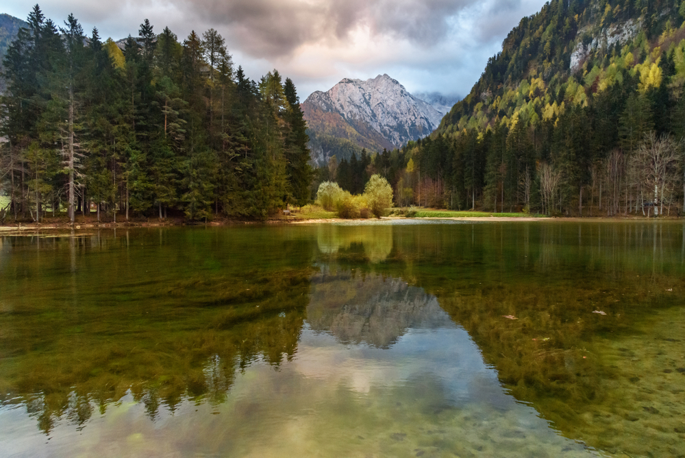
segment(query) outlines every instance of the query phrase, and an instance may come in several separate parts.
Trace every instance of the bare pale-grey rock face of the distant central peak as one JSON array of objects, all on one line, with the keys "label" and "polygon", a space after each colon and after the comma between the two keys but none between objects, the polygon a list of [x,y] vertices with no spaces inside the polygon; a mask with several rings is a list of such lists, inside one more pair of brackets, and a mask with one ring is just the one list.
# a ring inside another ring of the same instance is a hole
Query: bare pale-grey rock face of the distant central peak
[{"label": "bare pale-grey rock face of the distant central peak", "polygon": [[[325,93],[312,93],[302,106],[310,130],[328,134],[318,118],[321,113],[332,113],[362,136],[369,136],[370,132],[372,137],[379,137],[371,143],[383,147],[400,147],[410,140],[427,136],[443,117],[431,104],[408,93],[388,75],[366,81],[345,78]],[[308,112],[313,115],[308,117]],[[350,136],[344,138],[355,142]]]}]

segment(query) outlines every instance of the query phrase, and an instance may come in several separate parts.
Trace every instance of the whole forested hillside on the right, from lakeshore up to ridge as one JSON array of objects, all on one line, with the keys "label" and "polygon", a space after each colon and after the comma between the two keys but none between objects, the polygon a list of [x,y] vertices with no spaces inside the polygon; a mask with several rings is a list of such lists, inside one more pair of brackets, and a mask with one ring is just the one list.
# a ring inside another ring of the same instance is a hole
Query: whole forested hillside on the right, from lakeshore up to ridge
[{"label": "whole forested hillside on the right, from lakeshore up to ridge", "polygon": [[374,156],[362,179],[381,173],[399,205],[680,215],[684,19],[680,0],[552,0],[436,132]]}]

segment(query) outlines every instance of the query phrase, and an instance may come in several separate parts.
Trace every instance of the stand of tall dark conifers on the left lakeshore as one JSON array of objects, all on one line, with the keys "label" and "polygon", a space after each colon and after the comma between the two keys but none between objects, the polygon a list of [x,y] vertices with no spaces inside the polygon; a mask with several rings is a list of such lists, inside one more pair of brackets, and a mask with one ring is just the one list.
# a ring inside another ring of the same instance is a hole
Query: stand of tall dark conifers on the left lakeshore
[{"label": "stand of tall dark conifers on the left lakeshore", "polygon": [[16,219],[66,207],[263,219],[310,198],[306,123],[290,79],[234,70],[214,29],[179,43],[145,20],[123,51],[34,7],[3,61],[1,186]]}]

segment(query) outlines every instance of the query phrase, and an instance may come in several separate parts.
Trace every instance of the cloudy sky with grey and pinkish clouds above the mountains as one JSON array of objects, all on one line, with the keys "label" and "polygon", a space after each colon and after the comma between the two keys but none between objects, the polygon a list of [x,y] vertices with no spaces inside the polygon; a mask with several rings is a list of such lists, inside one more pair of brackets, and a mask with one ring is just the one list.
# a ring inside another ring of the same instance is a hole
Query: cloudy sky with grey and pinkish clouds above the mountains
[{"label": "cloudy sky with grey and pinkish clouds above the mountains", "polygon": [[[149,19],[183,40],[213,27],[234,62],[258,80],[271,69],[292,78],[301,99],[344,77],[387,73],[410,93],[466,95],[523,16],[545,0],[42,0],[61,24],[73,14],[86,31],[115,40]],[[0,12],[26,19],[29,3]]]}]

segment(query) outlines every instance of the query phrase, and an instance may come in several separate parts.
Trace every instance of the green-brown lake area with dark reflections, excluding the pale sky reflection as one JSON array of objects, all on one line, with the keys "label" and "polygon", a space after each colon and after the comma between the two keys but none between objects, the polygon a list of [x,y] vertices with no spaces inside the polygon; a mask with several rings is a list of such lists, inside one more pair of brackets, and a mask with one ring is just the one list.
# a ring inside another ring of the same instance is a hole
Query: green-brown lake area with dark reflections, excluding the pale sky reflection
[{"label": "green-brown lake area with dark reflections, excluding the pale sky reflection", "polygon": [[297,360],[304,328],[388,350],[446,313],[508,393],[564,436],[618,456],[685,453],[679,223],[0,241],[0,401],[25,408],[46,435],[59,422],[83,427],[126,396],[153,420],[187,400],[222,405],[247,367]]}]

